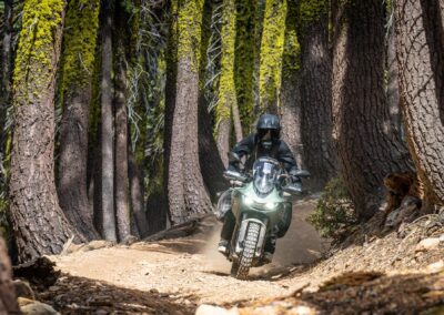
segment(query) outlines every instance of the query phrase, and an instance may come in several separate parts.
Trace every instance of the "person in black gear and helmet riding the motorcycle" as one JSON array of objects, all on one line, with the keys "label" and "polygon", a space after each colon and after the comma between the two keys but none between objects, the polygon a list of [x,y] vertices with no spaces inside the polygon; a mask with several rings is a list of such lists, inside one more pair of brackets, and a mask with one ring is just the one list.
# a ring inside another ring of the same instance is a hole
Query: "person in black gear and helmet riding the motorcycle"
[{"label": "person in black gear and helmet riding the motorcycle", "polygon": [[[296,176],[297,164],[286,143],[280,139],[281,123],[274,114],[263,114],[256,123],[256,132],[241,140],[231,151],[229,171],[240,171],[240,159],[246,156],[245,170],[251,170],[256,159],[270,156],[282,163],[290,175],[290,180],[295,185],[302,185],[301,179]],[[239,159],[234,159],[236,156]],[[231,197],[231,194],[224,194]],[[223,197],[223,196],[222,196]],[[290,223],[289,223],[290,224]],[[235,227],[235,219],[231,210],[226,213],[221,241],[218,251],[226,254],[228,245]],[[264,260],[271,262],[275,250],[276,236],[272,236],[265,242]]]}]

